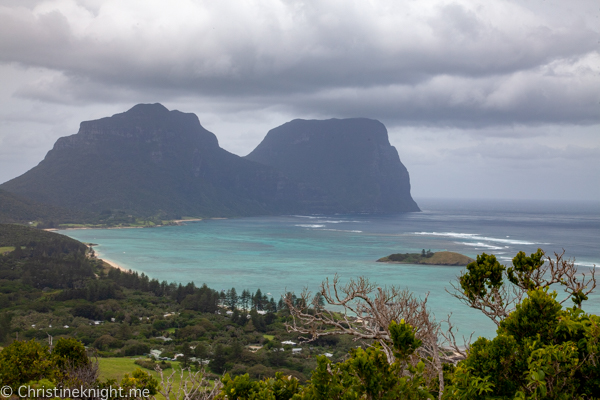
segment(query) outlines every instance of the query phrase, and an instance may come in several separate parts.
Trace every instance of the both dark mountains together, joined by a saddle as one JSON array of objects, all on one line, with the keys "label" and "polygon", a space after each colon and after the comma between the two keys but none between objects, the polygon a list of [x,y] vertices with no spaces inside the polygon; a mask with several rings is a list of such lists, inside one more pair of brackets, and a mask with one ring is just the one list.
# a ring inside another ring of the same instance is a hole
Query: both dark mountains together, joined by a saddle
[{"label": "both dark mountains together, joined by a saddle", "polygon": [[293,120],[239,157],[195,114],[161,104],[82,122],[0,189],[69,209],[167,217],[419,211],[379,121]]}]

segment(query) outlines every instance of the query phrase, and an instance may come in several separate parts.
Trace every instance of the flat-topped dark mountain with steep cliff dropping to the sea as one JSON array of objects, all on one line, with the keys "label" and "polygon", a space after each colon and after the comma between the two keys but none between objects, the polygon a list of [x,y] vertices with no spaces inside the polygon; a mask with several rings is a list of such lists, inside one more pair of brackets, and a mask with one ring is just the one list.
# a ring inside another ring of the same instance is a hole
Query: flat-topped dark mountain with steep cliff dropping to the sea
[{"label": "flat-topped dark mountain with steep cliff dropping to the sea", "polygon": [[269,131],[247,160],[300,182],[313,212],[419,211],[385,126],[367,118],[296,119]]}]

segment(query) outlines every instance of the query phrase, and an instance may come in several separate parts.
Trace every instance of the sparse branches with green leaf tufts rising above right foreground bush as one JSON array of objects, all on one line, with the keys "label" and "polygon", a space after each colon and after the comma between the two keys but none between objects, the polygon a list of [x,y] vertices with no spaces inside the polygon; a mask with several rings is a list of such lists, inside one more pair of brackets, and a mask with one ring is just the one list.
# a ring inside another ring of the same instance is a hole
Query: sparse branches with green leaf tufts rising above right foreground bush
[{"label": "sparse branches with green leaf tufts rising above right foreground bush", "polygon": [[595,270],[590,270],[589,278],[579,273],[575,261],[564,258],[565,251],[546,256],[538,249],[531,256],[519,252],[513,258],[512,266],[506,268],[494,256],[485,253],[477,256],[477,261],[467,266],[467,272],[451,282],[452,296],[480,310],[497,326],[533,289],[557,288],[560,285],[567,296],[560,300],[563,304],[571,298],[581,308],[582,301],[596,288]]}]

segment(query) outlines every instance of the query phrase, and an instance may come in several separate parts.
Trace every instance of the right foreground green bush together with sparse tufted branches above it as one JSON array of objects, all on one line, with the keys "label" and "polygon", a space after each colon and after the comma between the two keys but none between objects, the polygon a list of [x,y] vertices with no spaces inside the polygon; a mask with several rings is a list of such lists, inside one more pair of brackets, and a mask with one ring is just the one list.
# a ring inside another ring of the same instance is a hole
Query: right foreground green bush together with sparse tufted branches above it
[{"label": "right foreground green bush together with sparse tufted branches above it", "polygon": [[[449,399],[600,397],[600,317],[581,310],[594,271],[579,278],[563,254],[519,252],[506,268],[484,253],[467,266],[455,296],[492,319],[498,335],[473,343]],[[550,290],[556,284],[568,294],[562,300]],[[573,307],[563,308],[569,298]]]}]

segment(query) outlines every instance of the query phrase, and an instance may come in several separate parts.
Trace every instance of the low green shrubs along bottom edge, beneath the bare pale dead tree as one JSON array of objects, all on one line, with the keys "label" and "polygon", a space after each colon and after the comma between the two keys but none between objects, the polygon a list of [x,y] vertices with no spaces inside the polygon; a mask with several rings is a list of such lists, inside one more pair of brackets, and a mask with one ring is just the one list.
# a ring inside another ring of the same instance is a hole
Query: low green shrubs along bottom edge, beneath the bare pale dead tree
[{"label": "low green shrubs along bottom edge, beneath the bare pale dead tree", "polygon": [[413,367],[408,362],[421,345],[413,327],[401,321],[393,322],[388,329],[392,333],[391,347],[395,354],[392,364],[388,363],[381,346],[376,344],[351,350],[349,358],[338,364],[320,356],[311,380],[304,387],[296,378],[280,372],[275,378],[259,382],[251,381],[248,374],[234,379],[225,375],[217,399],[432,399],[425,388],[425,364],[419,362]]}]

